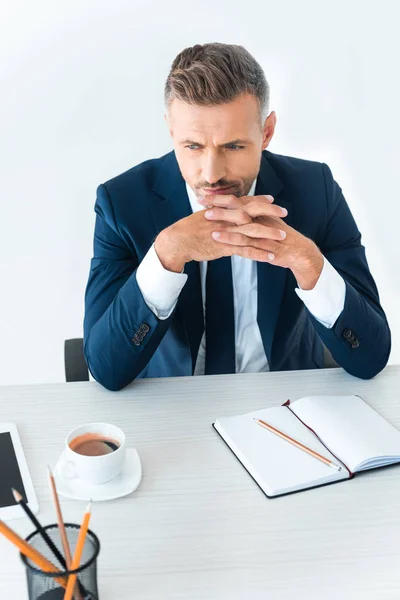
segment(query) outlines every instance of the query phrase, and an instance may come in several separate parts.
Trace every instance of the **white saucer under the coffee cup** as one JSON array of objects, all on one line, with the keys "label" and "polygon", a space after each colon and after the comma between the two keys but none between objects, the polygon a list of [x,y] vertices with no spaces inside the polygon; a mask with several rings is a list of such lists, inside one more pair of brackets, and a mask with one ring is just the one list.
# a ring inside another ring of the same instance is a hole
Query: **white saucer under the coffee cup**
[{"label": "white saucer under the coffee cup", "polygon": [[127,448],[123,469],[117,477],[106,483],[86,483],[80,479],[65,479],[61,475],[60,465],[63,463],[65,450],[54,469],[57,492],[74,500],[114,500],[131,494],[139,486],[142,479],[142,464],[135,448]]}]

